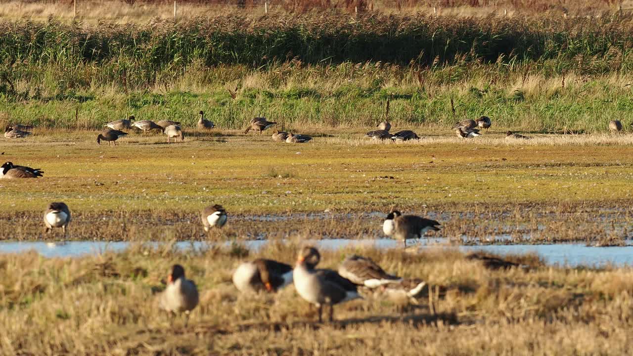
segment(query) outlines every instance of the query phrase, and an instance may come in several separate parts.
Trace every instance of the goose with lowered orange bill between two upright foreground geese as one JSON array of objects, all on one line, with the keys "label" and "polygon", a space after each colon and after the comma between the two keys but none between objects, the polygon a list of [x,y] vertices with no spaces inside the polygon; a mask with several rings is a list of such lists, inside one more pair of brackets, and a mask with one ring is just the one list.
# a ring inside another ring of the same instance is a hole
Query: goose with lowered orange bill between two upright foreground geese
[{"label": "goose with lowered orange bill between two upright foreground geese", "polygon": [[242,293],[264,289],[276,292],[291,283],[291,265],[263,258],[244,262],[233,273],[233,284]]}]

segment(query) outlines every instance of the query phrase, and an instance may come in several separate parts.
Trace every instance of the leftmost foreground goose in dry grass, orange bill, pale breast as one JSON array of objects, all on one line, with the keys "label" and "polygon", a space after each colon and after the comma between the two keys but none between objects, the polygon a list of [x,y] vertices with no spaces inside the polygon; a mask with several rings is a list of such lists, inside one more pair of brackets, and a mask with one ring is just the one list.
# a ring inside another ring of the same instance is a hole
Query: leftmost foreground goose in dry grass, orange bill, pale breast
[{"label": "leftmost foreground goose in dry grass, orange bill, pale breast", "polygon": [[167,288],[160,295],[160,306],[166,312],[175,315],[185,312],[185,326],[189,322],[189,312],[198,303],[196,284],[191,279],[185,279],[185,269],[181,265],[173,265],[172,272],[167,277]]}]

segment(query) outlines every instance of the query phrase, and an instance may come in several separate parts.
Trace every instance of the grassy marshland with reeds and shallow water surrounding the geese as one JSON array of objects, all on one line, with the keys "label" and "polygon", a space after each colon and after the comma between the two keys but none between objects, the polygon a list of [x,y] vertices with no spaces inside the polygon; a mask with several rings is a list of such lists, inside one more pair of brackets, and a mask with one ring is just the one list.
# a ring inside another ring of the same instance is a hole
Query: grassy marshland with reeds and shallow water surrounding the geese
[{"label": "grassy marshland with reeds and shallow water surrounding the geese", "polygon": [[[33,127],[0,137],[0,163],[44,171],[0,179],[0,354],[630,349],[633,271],[620,257],[633,222],[633,16],[622,3],[267,16],[258,3],[184,4],[196,16],[176,22],[158,3],[116,4],[128,12],[112,22],[68,18],[66,3],[0,10],[0,124]],[[213,129],[197,128],[199,111]],[[179,122],[184,141],[125,129],[116,146],[97,144],[130,115]],[[481,136],[455,135],[482,115]],[[254,117],[276,125],[243,134]],[[420,139],[365,137],[383,120]],[[273,129],[312,139],[275,142]],[[72,211],[67,234],[44,232],[53,201]],[[227,223],[206,232],[213,204]],[[396,209],[441,229],[405,250],[383,229]],[[50,253],[19,247],[36,242]],[[305,245],[319,247],[319,268],[357,254],[425,286],[415,298],[363,289],[332,322],[294,286],[235,288],[242,262],[294,265]],[[174,264],[199,291],[188,322],[160,307]]]}]

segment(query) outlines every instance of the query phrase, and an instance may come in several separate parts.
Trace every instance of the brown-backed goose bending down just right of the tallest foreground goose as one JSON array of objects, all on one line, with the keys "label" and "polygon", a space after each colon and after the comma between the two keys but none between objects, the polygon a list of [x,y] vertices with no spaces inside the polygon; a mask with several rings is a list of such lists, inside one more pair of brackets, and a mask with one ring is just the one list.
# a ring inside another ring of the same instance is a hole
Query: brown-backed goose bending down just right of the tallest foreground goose
[{"label": "brown-backed goose bending down just right of the tallest foreground goose", "polygon": [[387,283],[398,283],[400,277],[387,274],[379,265],[369,258],[352,255],[339,266],[339,274],[354,284],[376,288]]}]

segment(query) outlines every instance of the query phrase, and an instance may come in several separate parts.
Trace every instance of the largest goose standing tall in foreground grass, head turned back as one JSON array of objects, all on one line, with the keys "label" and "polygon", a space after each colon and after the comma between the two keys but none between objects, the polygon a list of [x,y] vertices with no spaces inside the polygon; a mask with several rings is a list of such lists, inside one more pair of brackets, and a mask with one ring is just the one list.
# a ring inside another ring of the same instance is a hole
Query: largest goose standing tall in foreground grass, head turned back
[{"label": "largest goose standing tall in foreground grass, head turned back", "polygon": [[356,284],[334,270],[318,269],[321,256],[316,248],[307,246],[299,251],[292,279],[297,293],[318,307],[318,321],[322,322],[323,305],[330,306],[330,321],[334,319],[334,304],[360,298]]}]

